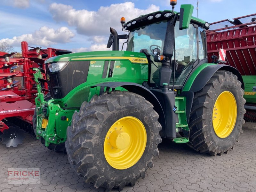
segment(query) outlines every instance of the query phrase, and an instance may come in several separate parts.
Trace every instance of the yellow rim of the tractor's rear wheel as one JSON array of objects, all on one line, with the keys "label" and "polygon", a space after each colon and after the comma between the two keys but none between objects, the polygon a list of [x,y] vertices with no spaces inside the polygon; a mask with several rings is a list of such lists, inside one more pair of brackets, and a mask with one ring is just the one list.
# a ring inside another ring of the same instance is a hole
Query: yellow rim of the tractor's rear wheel
[{"label": "yellow rim of the tractor's rear wheel", "polygon": [[220,93],[212,111],[212,125],[216,135],[226,138],[236,124],[236,99],[229,91]]}]

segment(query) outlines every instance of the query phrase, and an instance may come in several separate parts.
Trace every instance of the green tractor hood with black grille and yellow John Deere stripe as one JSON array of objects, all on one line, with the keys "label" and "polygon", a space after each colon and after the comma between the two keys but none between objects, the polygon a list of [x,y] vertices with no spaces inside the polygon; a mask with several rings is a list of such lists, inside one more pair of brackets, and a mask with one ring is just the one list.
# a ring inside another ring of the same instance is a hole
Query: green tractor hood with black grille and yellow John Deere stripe
[{"label": "green tractor hood with black grille and yellow John Deere stripe", "polygon": [[83,87],[98,82],[123,78],[142,83],[148,79],[148,60],[138,52],[69,53],[52,57],[45,61],[45,65],[46,80],[53,99],[64,98],[73,89],[84,90]]}]

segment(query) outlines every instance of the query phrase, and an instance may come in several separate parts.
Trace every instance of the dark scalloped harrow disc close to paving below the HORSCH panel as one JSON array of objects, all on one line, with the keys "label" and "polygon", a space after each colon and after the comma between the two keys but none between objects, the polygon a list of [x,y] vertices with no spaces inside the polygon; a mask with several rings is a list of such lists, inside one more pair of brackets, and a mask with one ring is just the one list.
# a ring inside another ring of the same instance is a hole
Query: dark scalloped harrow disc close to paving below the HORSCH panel
[{"label": "dark scalloped harrow disc close to paving below the HORSCH panel", "polygon": [[5,129],[3,134],[0,136],[2,143],[6,147],[17,147],[18,144],[22,144],[24,139],[24,131],[16,125],[10,125],[9,129]]}]

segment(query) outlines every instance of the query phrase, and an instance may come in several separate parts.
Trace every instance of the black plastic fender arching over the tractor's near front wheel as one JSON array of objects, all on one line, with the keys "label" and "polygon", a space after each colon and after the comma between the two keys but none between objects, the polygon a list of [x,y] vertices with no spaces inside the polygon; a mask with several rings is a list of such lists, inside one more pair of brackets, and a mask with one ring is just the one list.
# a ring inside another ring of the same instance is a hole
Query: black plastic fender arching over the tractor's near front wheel
[{"label": "black plastic fender arching over the tractor's near front wheel", "polygon": [[158,101],[158,99],[156,98],[156,96],[150,90],[148,90],[146,87],[144,87],[140,84],[131,83],[131,82],[106,82],[106,83],[96,84],[91,87],[92,88],[93,87],[109,87],[112,89],[115,89],[116,87],[123,87],[124,89],[126,89],[129,92],[133,92],[138,95],[141,95],[142,97],[144,97],[146,100],[148,100],[154,106],[154,110],[159,115],[158,121],[162,126],[162,130],[165,130],[166,123],[165,123],[165,116],[164,116],[163,108],[162,108],[160,102]]}]

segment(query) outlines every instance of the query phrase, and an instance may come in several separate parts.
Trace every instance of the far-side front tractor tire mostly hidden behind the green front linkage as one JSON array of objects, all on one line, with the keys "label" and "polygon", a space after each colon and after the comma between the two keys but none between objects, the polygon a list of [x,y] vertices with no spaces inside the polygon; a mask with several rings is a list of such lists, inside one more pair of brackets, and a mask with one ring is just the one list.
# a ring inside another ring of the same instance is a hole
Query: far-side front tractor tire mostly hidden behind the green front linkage
[{"label": "far-side front tractor tire mostly hidden behind the green front linkage", "polygon": [[[45,96],[44,96],[44,100],[45,101],[49,101],[51,99],[51,95],[50,92],[48,92]],[[33,128],[34,128],[34,133],[36,135],[36,109],[34,111],[34,115],[33,115]],[[45,141],[43,138],[40,138],[41,143],[44,145]],[[66,154],[66,147],[65,147],[65,143],[60,143],[60,144],[54,144],[54,143],[50,143],[49,146],[47,147],[50,150],[53,150],[57,153],[64,153]]]}]

